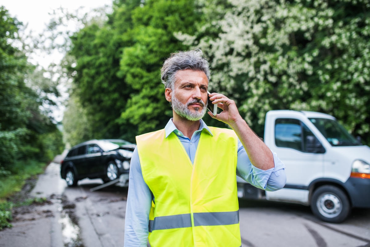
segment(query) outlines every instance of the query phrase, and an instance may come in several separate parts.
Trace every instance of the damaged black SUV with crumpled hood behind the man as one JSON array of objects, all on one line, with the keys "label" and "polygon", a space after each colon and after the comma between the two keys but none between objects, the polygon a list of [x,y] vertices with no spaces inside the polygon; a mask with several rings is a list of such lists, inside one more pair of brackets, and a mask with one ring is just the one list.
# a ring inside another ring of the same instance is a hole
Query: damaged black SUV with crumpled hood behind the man
[{"label": "damaged black SUV with crumpled hood behind the man", "polygon": [[90,140],[71,148],[61,161],[60,175],[68,186],[83,178],[113,181],[121,174],[128,177],[135,144],[120,139]]}]

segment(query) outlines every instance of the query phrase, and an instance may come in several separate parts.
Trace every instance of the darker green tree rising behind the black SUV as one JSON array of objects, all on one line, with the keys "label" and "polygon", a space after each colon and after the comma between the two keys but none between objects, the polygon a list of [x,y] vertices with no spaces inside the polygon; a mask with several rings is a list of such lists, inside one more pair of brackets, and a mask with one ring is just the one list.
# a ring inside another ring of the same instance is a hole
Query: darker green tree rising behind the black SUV
[{"label": "darker green tree rising behind the black SUV", "polygon": [[[131,93],[124,81],[117,77],[117,71],[122,47],[131,44],[121,32],[127,31],[131,18],[130,8],[135,6],[139,6],[139,1],[128,4],[117,2],[108,21],[93,19],[71,36],[72,46],[68,54],[75,58],[75,63],[69,64],[67,69],[73,76],[73,89],[76,89],[73,93],[89,116],[91,126],[91,132],[83,136],[134,139],[132,132],[127,131],[132,126],[129,128],[127,124],[117,123]],[[127,23],[122,23],[120,18]],[[84,126],[75,128],[84,129]],[[73,143],[79,140],[81,138],[74,141],[70,139]]]}]

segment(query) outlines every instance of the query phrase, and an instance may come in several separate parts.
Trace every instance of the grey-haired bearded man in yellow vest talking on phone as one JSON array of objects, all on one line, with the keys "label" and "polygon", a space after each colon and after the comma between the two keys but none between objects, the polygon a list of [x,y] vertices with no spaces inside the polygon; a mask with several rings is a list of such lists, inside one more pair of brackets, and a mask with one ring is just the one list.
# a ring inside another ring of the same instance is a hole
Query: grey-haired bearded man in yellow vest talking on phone
[{"label": "grey-haired bearded man in yellow vest talking on phone", "polygon": [[173,118],[163,130],[137,136],[125,247],[147,246],[147,239],[152,247],[240,247],[236,175],[269,191],[285,185],[284,165],[233,100],[209,94],[222,111],[208,114],[232,130],[206,126],[209,75],[200,50],[174,53],[164,62],[161,76]]}]

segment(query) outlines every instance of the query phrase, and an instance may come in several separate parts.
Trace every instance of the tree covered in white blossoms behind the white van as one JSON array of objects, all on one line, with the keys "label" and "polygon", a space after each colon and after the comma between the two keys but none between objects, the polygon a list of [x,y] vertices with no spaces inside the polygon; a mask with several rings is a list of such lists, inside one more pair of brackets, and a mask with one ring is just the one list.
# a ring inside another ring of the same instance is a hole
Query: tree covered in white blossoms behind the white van
[{"label": "tree covered in white blossoms behind the white van", "polygon": [[368,1],[230,0],[213,9],[220,2],[203,3],[209,19],[177,37],[205,51],[212,90],[235,99],[260,136],[268,110],[312,110],[370,144]]}]

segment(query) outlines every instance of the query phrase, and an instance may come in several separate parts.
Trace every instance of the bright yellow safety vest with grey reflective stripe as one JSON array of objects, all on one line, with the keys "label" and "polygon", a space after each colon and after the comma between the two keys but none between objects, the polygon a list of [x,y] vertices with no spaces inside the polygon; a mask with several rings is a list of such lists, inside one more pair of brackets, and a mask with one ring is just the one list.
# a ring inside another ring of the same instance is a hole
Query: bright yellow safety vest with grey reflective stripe
[{"label": "bright yellow safety vest with grey reflective stripe", "polygon": [[236,187],[238,139],[233,130],[202,130],[194,164],[175,133],[136,137],[141,171],[154,195],[152,247],[240,247]]}]

